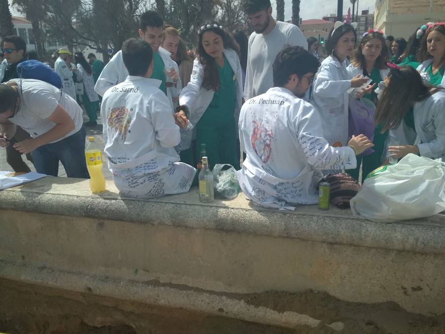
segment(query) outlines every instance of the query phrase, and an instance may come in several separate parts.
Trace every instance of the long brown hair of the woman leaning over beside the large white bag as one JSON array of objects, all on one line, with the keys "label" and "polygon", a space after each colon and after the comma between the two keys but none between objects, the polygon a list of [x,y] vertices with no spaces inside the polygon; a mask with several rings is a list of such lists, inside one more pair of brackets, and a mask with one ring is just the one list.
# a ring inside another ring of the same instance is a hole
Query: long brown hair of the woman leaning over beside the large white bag
[{"label": "long brown hair of the woman leaning over beside the large white bag", "polygon": [[383,132],[396,129],[414,102],[423,101],[440,90],[440,87],[425,85],[420,74],[411,66],[392,68],[388,87],[375,111],[376,124],[383,125]]}]

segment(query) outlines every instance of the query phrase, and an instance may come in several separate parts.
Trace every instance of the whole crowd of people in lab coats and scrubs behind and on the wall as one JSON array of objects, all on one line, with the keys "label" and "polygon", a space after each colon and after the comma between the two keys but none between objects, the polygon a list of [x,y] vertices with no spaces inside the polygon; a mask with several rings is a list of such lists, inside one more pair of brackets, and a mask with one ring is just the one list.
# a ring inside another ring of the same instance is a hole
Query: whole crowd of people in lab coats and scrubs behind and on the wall
[{"label": "whole crowd of people in lab coats and scrubs behind and on the wall", "polygon": [[[444,22],[419,27],[408,43],[376,29],[358,41],[354,23],[336,22],[321,61],[317,41],[276,21],[269,0],[245,0],[243,10],[250,37],[208,22],[194,51],[152,10],[105,66],[81,52],[71,64],[61,48],[61,90],[17,79],[26,45],[5,38],[0,145],[15,159],[31,153],[38,172],[57,175],[60,160],[69,177],[88,177],[78,102],[86,126],[97,124],[100,103],[104,153],[123,194],[189,191],[205,144],[210,166],[235,167],[256,205],[290,209],[317,203],[323,175],[346,170],[358,181],[360,170],[364,180],[409,153],[444,156]],[[352,130],[360,110],[370,121]]]}]

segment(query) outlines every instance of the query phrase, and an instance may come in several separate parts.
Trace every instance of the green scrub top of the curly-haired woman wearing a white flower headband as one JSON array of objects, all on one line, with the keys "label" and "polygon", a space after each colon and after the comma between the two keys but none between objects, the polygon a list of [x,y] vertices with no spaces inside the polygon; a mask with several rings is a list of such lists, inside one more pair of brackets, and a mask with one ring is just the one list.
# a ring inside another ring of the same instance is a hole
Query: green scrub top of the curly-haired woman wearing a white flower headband
[{"label": "green scrub top of the curly-haired woman wearing a white flower headband", "polygon": [[219,128],[234,122],[233,112],[236,105],[236,76],[224,56],[224,67],[217,64],[220,76],[220,89],[202,115],[197,128]]}]

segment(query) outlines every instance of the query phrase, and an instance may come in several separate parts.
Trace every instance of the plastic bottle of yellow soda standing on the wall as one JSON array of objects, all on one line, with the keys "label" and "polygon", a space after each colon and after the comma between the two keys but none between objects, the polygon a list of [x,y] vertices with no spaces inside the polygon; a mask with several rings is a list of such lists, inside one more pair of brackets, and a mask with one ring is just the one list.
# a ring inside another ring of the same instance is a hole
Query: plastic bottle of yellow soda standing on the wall
[{"label": "plastic bottle of yellow soda standing on the wall", "polygon": [[88,137],[88,145],[85,149],[87,168],[89,173],[89,189],[92,193],[105,191],[105,177],[102,173],[102,150],[94,142],[94,137]]}]

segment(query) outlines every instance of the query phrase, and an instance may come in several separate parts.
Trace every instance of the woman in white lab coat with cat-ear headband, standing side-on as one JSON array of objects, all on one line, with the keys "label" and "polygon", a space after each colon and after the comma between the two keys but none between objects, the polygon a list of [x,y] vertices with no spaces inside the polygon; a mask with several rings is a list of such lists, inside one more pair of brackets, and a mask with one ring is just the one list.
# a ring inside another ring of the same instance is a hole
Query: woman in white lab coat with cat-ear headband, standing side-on
[{"label": "woman in white lab coat with cat-ear headband, standing side-on", "polygon": [[347,71],[347,57],[353,53],[355,44],[354,26],[337,21],[327,41],[330,56],[321,62],[313,84],[311,102],[320,112],[323,136],[333,146],[348,143],[348,90],[367,81],[360,75],[352,78]]}]

